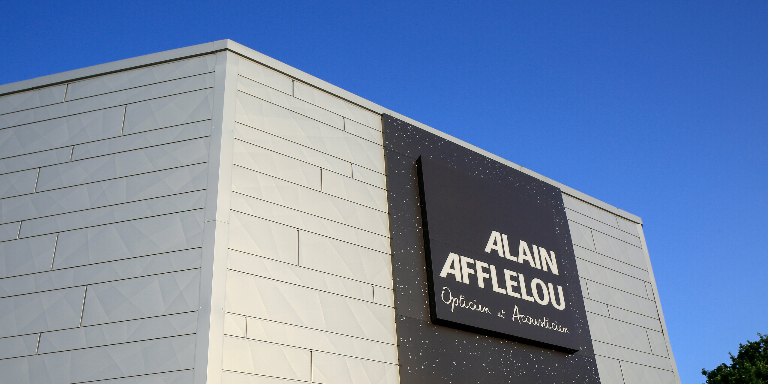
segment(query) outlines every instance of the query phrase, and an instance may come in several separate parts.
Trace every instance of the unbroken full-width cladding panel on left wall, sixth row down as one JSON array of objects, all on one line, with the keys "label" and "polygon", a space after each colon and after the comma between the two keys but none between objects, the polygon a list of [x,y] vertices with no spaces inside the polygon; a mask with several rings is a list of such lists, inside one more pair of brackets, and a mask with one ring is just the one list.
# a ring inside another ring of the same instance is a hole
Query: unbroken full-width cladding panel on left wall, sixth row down
[{"label": "unbroken full-width cladding panel on left wall, sixth row down", "polygon": [[204,189],[206,164],[138,174],[0,200],[0,223]]}]

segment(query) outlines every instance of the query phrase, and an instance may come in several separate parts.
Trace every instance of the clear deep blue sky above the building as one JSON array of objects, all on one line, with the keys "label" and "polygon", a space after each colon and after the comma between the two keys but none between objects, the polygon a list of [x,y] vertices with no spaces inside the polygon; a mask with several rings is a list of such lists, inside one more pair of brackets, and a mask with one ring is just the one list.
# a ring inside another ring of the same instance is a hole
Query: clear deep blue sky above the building
[{"label": "clear deep blue sky above the building", "polygon": [[768,333],[768,2],[2,2],[0,84],[231,38],[645,223],[684,383]]}]

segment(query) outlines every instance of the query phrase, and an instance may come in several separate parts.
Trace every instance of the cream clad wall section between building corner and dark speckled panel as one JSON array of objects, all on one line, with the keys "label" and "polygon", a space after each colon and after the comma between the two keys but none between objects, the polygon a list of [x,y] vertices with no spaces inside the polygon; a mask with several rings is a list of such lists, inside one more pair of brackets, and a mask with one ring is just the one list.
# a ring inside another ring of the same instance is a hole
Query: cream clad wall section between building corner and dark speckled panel
[{"label": "cream clad wall section between building corner and dark speckled panel", "polygon": [[223,382],[399,382],[381,116],[238,74]]}]

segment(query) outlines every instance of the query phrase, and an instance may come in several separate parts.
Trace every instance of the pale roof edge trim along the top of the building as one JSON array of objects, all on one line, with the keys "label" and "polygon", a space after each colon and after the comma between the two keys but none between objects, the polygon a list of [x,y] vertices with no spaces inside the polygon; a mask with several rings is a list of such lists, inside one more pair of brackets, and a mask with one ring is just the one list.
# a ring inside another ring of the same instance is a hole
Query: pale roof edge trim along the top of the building
[{"label": "pale roof edge trim along the top of the building", "polygon": [[529,170],[528,168],[521,167],[518,164],[512,163],[511,161],[508,161],[502,157],[499,157],[498,155],[492,154],[488,151],[482,150],[481,148],[475,147],[474,145],[469,144],[465,141],[462,141],[449,134],[446,134],[445,132],[436,130],[433,127],[429,127],[428,125],[419,123],[419,121],[415,121],[411,118],[407,118],[402,114],[391,111],[387,108],[382,107],[379,104],[376,104],[376,103],[373,103],[372,101],[368,101],[364,98],[361,98],[358,95],[353,94],[352,92],[345,91],[342,88],[337,87],[336,85],[330,84],[329,82],[316,78],[311,74],[307,74],[304,71],[300,71],[296,68],[293,68],[290,65],[283,63],[282,61],[277,61],[274,58],[270,58],[269,56],[263,55],[260,52],[254,51],[253,49],[248,48],[245,45],[239,44],[230,39],[211,41],[209,43],[192,45],[190,47],[171,49],[170,51],[162,51],[162,52],[157,52],[150,55],[137,56],[135,58],[126,58],[124,60],[112,61],[110,63],[93,65],[91,67],[86,67],[86,68],[74,69],[72,71],[61,72],[58,74],[48,74],[47,76],[41,76],[39,78],[31,78],[29,80],[22,80],[22,81],[16,81],[14,83],[2,84],[0,85],[0,96],[5,94],[12,94],[15,92],[30,91],[38,88],[45,88],[55,84],[63,84],[71,81],[78,81],[84,78],[92,78],[94,76],[98,76],[102,74],[110,74],[114,72],[127,71],[134,68],[146,67],[148,65],[157,65],[164,62],[168,62],[168,61],[177,61],[184,58],[192,58],[194,56],[210,55],[220,51],[232,51],[237,55],[241,55],[245,58],[249,58],[250,60],[257,61],[261,65],[266,65],[266,67],[282,72],[283,74],[286,74],[291,78],[302,81],[306,84],[310,84],[315,88],[322,89],[323,91],[333,94],[336,97],[343,98],[344,100],[349,101],[353,104],[357,104],[362,108],[366,108],[369,111],[373,111],[378,114],[389,114],[395,118],[399,118],[400,120],[406,121],[409,124],[413,124],[416,127],[420,127],[425,131],[429,131],[432,134],[436,134],[439,137],[443,137],[446,140],[452,141],[472,151],[478,152],[478,154],[482,154],[484,156],[490,157],[495,161],[498,161],[502,164],[506,164],[509,167],[513,167],[517,170],[520,170],[521,172],[525,174],[529,174],[533,177],[536,177],[539,180],[546,181],[547,183],[552,184],[555,187],[559,187],[564,194],[568,194],[572,197],[577,198],[578,200],[583,200],[588,204],[592,204],[595,207],[600,207],[601,209],[611,212],[611,214],[624,217],[625,219],[634,221],[635,223],[640,223],[640,224],[643,223],[643,220],[641,220],[640,217],[634,214],[630,214],[625,210],[621,210],[617,207],[612,206],[611,204],[607,204],[601,200],[595,199],[594,197],[591,197],[588,194],[584,194],[578,190],[574,190],[573,188],[568,187],[567,185],[558,183],[557,181],[554,181],[549,177],[545,177],[541,174],[538,174],[533,170]]}]

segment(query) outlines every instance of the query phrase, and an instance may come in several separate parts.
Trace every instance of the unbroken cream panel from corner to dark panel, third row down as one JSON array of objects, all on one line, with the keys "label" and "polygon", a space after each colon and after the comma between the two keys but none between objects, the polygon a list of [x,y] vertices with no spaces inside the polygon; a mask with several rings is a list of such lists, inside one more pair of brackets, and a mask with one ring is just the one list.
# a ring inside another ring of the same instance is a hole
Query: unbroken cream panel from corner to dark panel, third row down
[{"label": "unbroken cream panel from corner to dark panel, third row down", "polygon": [[[290,98],[286,94],[283,96]],[[235,107],[237,122],[384,173],[383,147],[342,131],[343,127],[313,120],[242,92],[237,94]]]}]

